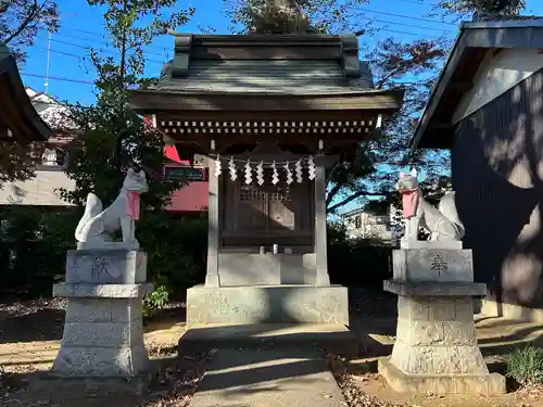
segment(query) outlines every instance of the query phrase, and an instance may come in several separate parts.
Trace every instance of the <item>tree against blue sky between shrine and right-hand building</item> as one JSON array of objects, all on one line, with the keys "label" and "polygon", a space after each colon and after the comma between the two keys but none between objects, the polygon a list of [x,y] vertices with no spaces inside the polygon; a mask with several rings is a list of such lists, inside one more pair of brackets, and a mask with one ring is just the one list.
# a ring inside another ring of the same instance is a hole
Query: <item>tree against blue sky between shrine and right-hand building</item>
[{"label": "tree against blue sky between shrine and right-hand building", "polygon": [[390,200],[395,194],[397,173],[407,164],[424,168],[429,178],[443,174],[447,153],[424,151],[412,156],[407,143],[446,56],[446,47],[445,40],[405,43],[388,38],[366,55],[376,88],[405,88],[404,104],[372,138],[358,144],[354,161],[338,163],[332,168],[328,177],[329,212],[352,202],[363,204],[368,198]]}]

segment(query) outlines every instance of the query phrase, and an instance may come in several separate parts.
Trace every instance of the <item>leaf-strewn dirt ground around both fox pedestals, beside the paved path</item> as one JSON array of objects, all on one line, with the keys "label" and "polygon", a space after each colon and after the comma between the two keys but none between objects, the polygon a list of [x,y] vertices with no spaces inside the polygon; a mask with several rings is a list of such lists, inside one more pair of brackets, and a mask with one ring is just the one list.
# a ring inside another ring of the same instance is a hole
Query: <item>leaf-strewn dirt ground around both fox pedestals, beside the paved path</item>
[{"label": "leaf-strewn dirt ground around both fox pedestals, beside the paved path", "polygon": [[[377,358],[390,355],[395,335],[395,301],[392,295],[358,290],[352,301],[352,329],[358,334],[365,357],[353,361],[343,376],[342,390],[350,406],[371,407],[543,407],[540,389],[517,391],[503,397],[472,396],[435,397],[392,392],[376,374]],[[55,402],[25,391],[25,374],[48,369],[59,349],[64,320],[63,304],[37,302],[0,306],[0,406],[103,406],[104,400],[80,398]],[[543,346],[543,327],[501,318],[476,317],[481,351],[490,369],[503,371],[502,355],[523,342]],[[172,309],[166,316],[146,327],[146,344],[160,365],[150,394],[144,398],[108,400],[110,407],[188,406],[190,394],[203,373],[202,356],[175,352],[185,331],[182,309]],[[162,358],[161,358],[162,357]],[[346,384],[345,384],[346,383]],[[23,387],[21,387],[23,384]],[[3,393],[2,393],[3,392]],[[10,393],[5,396],[5,392]],[[358,392],[358,393],[357,393]],[[350,395],[351,394],[351,395]],[[361,402],[362,400],[362,402]],[[18,403],[17,403],[18,402]],[[55,404],[56,403],[56,404]]]}]

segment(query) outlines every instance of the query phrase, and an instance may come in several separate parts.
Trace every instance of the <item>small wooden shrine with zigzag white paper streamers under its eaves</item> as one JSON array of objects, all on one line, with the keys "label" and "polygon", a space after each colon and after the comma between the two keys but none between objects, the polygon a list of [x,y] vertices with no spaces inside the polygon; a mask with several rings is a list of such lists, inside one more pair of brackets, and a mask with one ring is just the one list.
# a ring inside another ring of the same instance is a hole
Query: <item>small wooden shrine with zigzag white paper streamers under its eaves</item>
[{"label": "small wooden shrine with zigzag white paper streamers under its eaves", "polygon": [[[354,35],[176,34],[157,87],[132,91],[130,104],[181,160],[210,167],[205,289],[330,288],[326,169],[353,160],[402,99],[374,89]],[[220,313],[193,318],[258,314]],[[279,314],[269,318],[291,318]]]}]

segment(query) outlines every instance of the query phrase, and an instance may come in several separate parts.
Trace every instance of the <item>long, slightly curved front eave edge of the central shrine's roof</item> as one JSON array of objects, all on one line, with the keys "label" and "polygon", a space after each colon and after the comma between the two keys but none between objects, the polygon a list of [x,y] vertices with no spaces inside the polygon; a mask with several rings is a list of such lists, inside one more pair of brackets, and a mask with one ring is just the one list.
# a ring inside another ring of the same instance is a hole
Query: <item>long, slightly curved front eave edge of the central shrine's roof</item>
[{"label": "long, slightly curved front eave edge of the central shrine's roof", "polygon": [[362,90],[325,94],[172,92],[135,90],[129,94],[134,111],[148,115],[175,111],[361,111],[394,113],[402,106],[404,89]]}]

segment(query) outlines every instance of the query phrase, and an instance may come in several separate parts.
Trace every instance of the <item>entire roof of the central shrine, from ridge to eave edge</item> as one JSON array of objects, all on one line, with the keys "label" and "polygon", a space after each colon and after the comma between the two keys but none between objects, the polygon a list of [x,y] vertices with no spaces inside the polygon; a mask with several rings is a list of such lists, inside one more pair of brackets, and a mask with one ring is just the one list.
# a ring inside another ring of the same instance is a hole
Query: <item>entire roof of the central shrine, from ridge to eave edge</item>
[{"label": "entire roof of the central shrine, from ridge to eave edge", "polygon": [[[251,94],[248,100],[247,94]],[[292,102],[298,98],[298,103]],[[371,99],[371,101],[368,100]],[[300,102],[303,99],[303,102]],[[323,101],[326,99],[326,101]],[[139,113],[162,110],[312,110],[401,106],[403,90],[374,89],[354,35],[175,35],[154,89],[134,91]],[[319,100],[320,103],[314,102]]]}]

